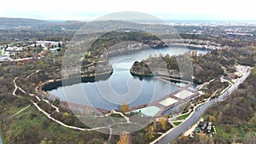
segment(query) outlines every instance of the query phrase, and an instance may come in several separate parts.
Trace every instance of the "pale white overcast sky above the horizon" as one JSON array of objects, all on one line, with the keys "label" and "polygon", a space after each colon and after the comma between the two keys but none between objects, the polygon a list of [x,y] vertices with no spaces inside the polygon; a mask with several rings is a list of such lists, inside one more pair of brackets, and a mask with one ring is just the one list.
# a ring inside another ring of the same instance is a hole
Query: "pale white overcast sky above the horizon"
[{"label": "pale white overcast sky above the horizon", "polygon": [[121,11],[161,20],[256,20],[255,0],[7,0],[0,17],[41,20],[95,20]]}]

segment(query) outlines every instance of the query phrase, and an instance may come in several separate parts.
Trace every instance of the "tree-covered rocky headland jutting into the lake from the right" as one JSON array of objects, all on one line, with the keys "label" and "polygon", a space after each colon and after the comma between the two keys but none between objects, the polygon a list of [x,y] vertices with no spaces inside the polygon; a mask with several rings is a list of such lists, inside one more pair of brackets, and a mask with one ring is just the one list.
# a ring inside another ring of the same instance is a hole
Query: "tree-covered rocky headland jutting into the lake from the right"
[{"label": "tree-covered rocky headland jutting into the lake from the right", "polygon": [[[227,72],[235,72],[234,65],[254,66],[256,59],[253,47],[241,49],[212,50],[202,56],[196,55],[160,55],[157,58],[149,57],[142,62],[136,61],[131,67],[131,73],[139,75],[162,74],[177,77],[181,69],[193,66],[193,72],[189,73],[195,77],[195,83],[202,84],[212,79],[219,79],[224,74],[224,67]],[[191,61],[192,63],[189,63]],[[192,69],[192,68],[191,68]],[[169,73],[165,74],[166,71]],[[184,73],[183,73],[184,74]],[[187,76],[187,77],[191,77]],[[182,75],[184,77],[184,75]]]}]

